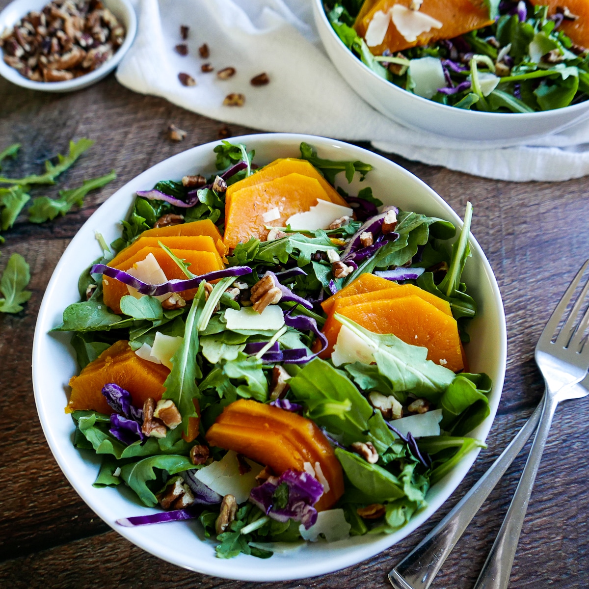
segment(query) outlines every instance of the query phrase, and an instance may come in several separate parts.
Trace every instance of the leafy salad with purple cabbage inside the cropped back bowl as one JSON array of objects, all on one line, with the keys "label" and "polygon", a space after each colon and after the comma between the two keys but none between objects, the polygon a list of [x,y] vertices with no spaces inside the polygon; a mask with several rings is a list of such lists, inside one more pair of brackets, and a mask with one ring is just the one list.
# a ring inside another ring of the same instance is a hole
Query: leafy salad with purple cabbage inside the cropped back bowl
[{"label": "leafy salad with purple cabbage inside the cropped back bowl", "polygon": [[[419,10],[428,14],[432,4],[426,1]],[[334,31],[356,57],[408,92],[457,108],[525,113],[577,104],[589,94],[589,50],[581,46],[587,25],[578,26],[584,16],[537,4],[487,1],[491,25],[469,30],[465,15],[464,34],[451,39],[435,35],[436,40],[427,44],[419,37],[417,44],[415,38],[405,37],[408,42],[391,49],[383,41],[384,30],[383,39],[372,48],[365,40],[368,29],[365,38],[357,32],[357,17],[369,18],[372,12],[367,9],[376,9],[373,0],[327,0],[325,10]],[[373,19],[378,20],[376,15]],[[389,27],[395,27],[394,20]],[[442,22],[432,22],[432,31],[442,27]]]}]

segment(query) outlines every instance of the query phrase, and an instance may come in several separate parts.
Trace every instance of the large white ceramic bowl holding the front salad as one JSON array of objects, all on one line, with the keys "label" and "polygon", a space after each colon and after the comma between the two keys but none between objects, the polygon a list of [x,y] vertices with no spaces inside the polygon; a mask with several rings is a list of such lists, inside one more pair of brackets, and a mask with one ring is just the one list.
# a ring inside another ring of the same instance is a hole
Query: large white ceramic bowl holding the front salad
[{"label": "large white ceramic bowl holding the front salad", "polygon": [[[295,134],[246,135],[234,137],[232,141],[245,143],[248,148],[256,150],[255,161],[259,164],[279,157],[299,156],[301,141],[314,145],[320,157],[365,161],[374,169],[362,184],[355,180],[352,187],[348,187],[343,174],[338,175],[337,180],[345,185],[346,190],[355,194],[359,187],[371,186],[385,204],[397,204],[402,209],[442,217],[461,226],[458,215],[421,180],[380,155],[354,145]],[[138,505],[132,492],[123,484],[119,488],[93,488],[100,459],[94,452],[79,451],[72,445],[74,425],[71,417],[64,413],[64,406],[69,395],[68,380],[77,370],[75,356],[68,343],[70,334],[49,334],[48,331],[61,322],[65,306],[78,300],[78,275],[101,254],[94,232],[100,231],[107,243],[118,237],[121,227],[117,219],[127,215],[137,190],[151,188],[158,180],[213,173],[213,147],[217,143],[199,145],[174,155],[125,184],[86,221],[65,250],[47,286],[35,330],[32,370],[39,419],[55,459],[72,487],[107,524],[144,550],[199,573],[247,581],[278,581],[331,573],[370,558],[415,531],[462,481],[477,451],[467,455],[454,471],[430,489],[428,507],[395,534],[355,537],[332,544],[320,541],[305,545],[292,554],[274,554],[267,560],[243,554],[231,560],[220,560],[215,556],[216,542],[204,539],[197,521],[139,528],[123,528],[115,524],[115,519],[157,510]],[[464,279],[478,301],[479,315],[471,323],[472,342],[467,346],[467,353],[472,370],[487,372],[494,385],[490,396],[491,415],[474,432],[484,440],[501,397],[507,332],[497,282],[474,237],[471,237],[471,250],[472,258],[466,263]]]}]

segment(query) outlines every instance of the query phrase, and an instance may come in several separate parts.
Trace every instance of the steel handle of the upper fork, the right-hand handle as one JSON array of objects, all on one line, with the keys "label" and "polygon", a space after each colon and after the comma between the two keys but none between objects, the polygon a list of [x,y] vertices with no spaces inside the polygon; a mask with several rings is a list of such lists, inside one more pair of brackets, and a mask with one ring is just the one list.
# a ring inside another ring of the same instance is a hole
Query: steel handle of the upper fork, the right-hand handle
[{"label": "steel handle of the upper fork, the right-hand handle", "polygon": [[474,589],[507,589],[515,551],[519,542],[519,534],[524,524],[525,512],[530,502],[532,487],[534,487],[534,481],[557,405],[558,401],[555,396],[545,393],[544,408],[542,409],[538,431],[534,436],[534,442],[532,442],[530,455],[525,463],[524,471],[519,479],[517,489],[515,489],[514,497],[511,500],[511,505],[509,505],[499,534],[495,539],[491,552],[489,552]]}]

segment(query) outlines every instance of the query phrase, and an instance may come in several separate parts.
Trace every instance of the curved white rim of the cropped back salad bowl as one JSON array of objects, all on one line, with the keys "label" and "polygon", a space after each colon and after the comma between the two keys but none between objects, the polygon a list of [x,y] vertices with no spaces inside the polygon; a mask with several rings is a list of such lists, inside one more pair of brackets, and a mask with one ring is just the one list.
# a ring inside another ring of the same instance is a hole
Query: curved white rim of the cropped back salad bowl
[{"label": "curved white rim of the cropped back salad bowl", "polygon": [[[375,80],[377,80],[378,84],[383,85],[383,87],[386,88],[392,88],[393,92],[403,92],[405,94],[411,94],[411,92],[407,92],[406,90],[404,90],[403,88],[393,84],[392,82],[389,82],[388,80],[385,80],[384,78],[381,78],[378,74],[375,74],[375,72],[373,72],[372,70],[370,70],[370,68],[363,64],[362,61],[360,61],[360,59],[358,59],[353,53],[352,51],[350,51],[350,49],[348,49],[342,42],[342,39],[340,39],[337,36],[337,33],[333,30],[333,27],[331,25],[331,23],[329,22],[329,20],[327,19],[327,15],[325,14],[325,9],[323,8],[323,2],[322,0],[314,0],[315,1],[315,5],[316,8],[318,9],[319,13],[320,13],[320,18],[323,21],[323,25],[325,25],[325,27],[327,27],[329,29],[330,34],[332,35],[332,37],[334,39],[336,39],[336,41],[341,45],[342,49],[345,50],[346,54],[349,54],[349,57],[351,59],[353,59],[354,62],[356,62],[356,64],[365,72],[368,72],[369,75],[371,75],[373,78],[375,78]],[[423,98],[421,96],[418,96],[416,94],[412,94],[413,97],[421,102],[422,104],[427,104],[429,105],[429,107],[431,108],[435,108],[437,110],[439,110],[439,114],[440,115],[444,115],[448,110],[451,110],[452,112],[456,112],[456,111],[460,111],[461,115],[458,116],[463,116],[464,118],[467,117],[471,117],[471,118],[489,118],[489,119],[497,119],[497,118],[501,118],[501,120],[504,119],[505,115],[509,115],[510,119],[514,119],[514,118],[531,118],[531,117],[535,117],[537,119],[541,119],[541,118],[550,118],[551,117],[551,113],[558,111],[560,109],[551,109],[551,110],[547,110],[547,111],[538,111],[538,112],[482,112],[482,111],[472,111],[466,108],[456,108],[456,107],[451,107],[447,104],[441,104],[440,102],[435,102],[434,100],[428,100],[427,98]],[[578,104],[573,104],[570,105],[568,107],[564,107],[567,110],[573,110],[573,111],[580,111],[579,117],[575,118],[563,125],[561,125],[560,127],[551,130],[550,133],[557,133],[559,130],[566,128],[566,127],[570,127],[571,125],[574,125],[578,119],[583,118],[583,115],[587,115],[587,111],[589,110],[589,98],[583,102],[579,102]]]}]

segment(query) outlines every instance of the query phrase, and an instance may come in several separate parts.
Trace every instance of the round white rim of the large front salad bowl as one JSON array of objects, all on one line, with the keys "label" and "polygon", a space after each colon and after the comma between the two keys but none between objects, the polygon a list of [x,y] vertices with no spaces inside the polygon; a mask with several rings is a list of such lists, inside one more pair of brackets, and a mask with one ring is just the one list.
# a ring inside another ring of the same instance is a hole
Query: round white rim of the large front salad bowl
[{"label": "round white rim of the large front salad bowl", "polygon": [[[391,160],[382,157],[377,153],[372,151],[365,150],[361,147],[356,145],[352,145],[349,143],[345,143],[344,141],[337,141],[333,139],[329,139],[326,137],[319,137],[317,135],[302,135],[296,133],[262,133],[262,134],[251,134],[251,135],[241,135],[240,137],[232,137],[232,141],[240,142],[248,144],[253,141],[262,141],[262,142],[280,142],[281,140],[286,140],[293,143],[298,147],[301,141],[307,141],[312,143],[315,147],[336,147],[338,149],[347,150],[348,152],[352,152],[353,156],[350,157],[358,157],[362,158],[362,156],[366,156],[366,154],[370,154],[371,158],[374,160],[382,162],[383,166],[393,168],[396,170],[397,173],[402,174],[406,178],[409,178],[415,184],[418,184],[432,196],[432,198],[437,201],[444,209],[448,212],[448,219],[451,220],[453,223],[456,224],[457,227],[462,227],[462,220],[455,213],[452,207],[449,206],[446,201],[439,196],[431,187],[429,187],[425,182],[423,182],[420,178],[416,177],[414,174],[405,170],[405,168],[395,164]],[[206,143],[203,145],[197,145],[196,147],[190,148],[186,151],[183,151],[179,154],[173,155],[166,160],[161,161],[147,170],[144,170],[141,174],[147,171],[153,171],[162,169],[165,170],[168,166],[170,160],[174,158],[182,158],[186,157],[189,153],[212,153],[213,147],[219,145],[220,141],[211,141],[210,143]],[[357,154],[357,155],[356,155]],[[346,155],[346,157],[349,157]],[[194,158],[195,160],[197,158]],[[138,174],[138,176],[141,176]],[[119,188],[111,197],[107,199],[108,202],[111,199],[116,199],[119,195],[128,194],[129,191],[133,191],[131,185],[135,183],[138,176],[135,176],[131,179],[127,184]],[[102,203],[101,207],[104,206],[105,203]],[[97,217],[99,216],[99,211],[101,207],[92,214],[92,216],[87,219],[82,227],[91,226],[94,227],[97,221]],[[82,228],[81,228],[82,229]],[[39,308],[37,324],[35,325],[35,335],[33,340],[33,353],[32,353],[32,376],[33,376],[33,388],[35,394],[35,405],[37,406],[37,412],[39,415],[39,421],[41,422],[41,427],[45,438],[47,439],[49,448],[51,449],[52,454],[57,461],[59,468],[61,468],[64,476],[68,479],[72,487],[75,491],[80,495],[82,500],[94,511],[98,517],[100,517],[103,521],[105,521],[110,527],[117,532],[118,534],[122,535],[128,541],[132,542],[133,544],[140,547],[142,550],[153,554],[158,558],[162,558],[172,564],[176,564],[180,567],[186,568],[188,570],[196,571],[197,573],[208,574],[208,575],[215,575],[216,577],[221,578],[229,578],[234,580],[242,580],[242,581],[287,581],[287,580],[295,580],[299,578],[307,578],[307,577],[316,577],[317,575],[322,574],[329,574],[335,571],[342,570],[343,568],[350,567],[352,565],[358,564],[358,562],[362,562],[368,558],[374,557],[379,552],[390,548],[396,542],[401,541],[403,538],[407,537],[409,534],[412,534],[417,528],[419,528],[427,519],[429,519],[434,513],[447,501],[452,493],[456,490],[456,487],[462,482],[466,473],[471,468],[472,464],[474,464],[475,459],[478,456],[480,448],[472,450],[469,454],[464,456],[461,462],[452,469],[441,482],[436,483],[434,487],[437,485],[442,485],[442,491],[436,495],[436,497],[428,503],[428,507],[423,509],[419,514],[417,514],[414,518],[409,521],[405,527],[401,528],[400,531],[395,532],[394,534],[390,535],[382,535],[380,537],[372,537],[370,538],[370,542],[366,542],[366,544],[359,544],[353,550],[353,557],[350,557],[349,552],[342,551],[342,554],[333,553],[329,554],[329,558],[326,558],[321,562],[321,564],[314,564],[314,565],[306,565],[302,564],[299,560],[295,558],[293,565],[286,566],[283,562],[283,567],[276,569],[274,567],[265,569],[264,567],[256,567],[255,572],[248,570],[247,573],[244,573],[243,570],[239,567],[239,564],[236,563],[235,566],[232,566],[233,563],[228,562],[223,559],[211,558],[210,560],[204,560],[203,562],[198,562],[196,557],[193,557],[188,560],[183,560],[180,558],[178,554],[173,550],[173,547],[168,547],[166,545],[158,544],[157,547],[150,542],[147,537],[142,537],[141,535],[137,534],[136,528],[126,528],[121,527],[115,524],[114,519],[112,518],[111,512],[108,511],[107,508],[104,507],[104,501],[101,501],[100,504],[96,504],[90,497],[85,496],[82,494],[83,491],[78,489],[77,482],[75,481],[76,474],[72,471],[71,467],[68,465],[67,459],[61,452],[61,440],[54,435],[52,431],[49,419],[47,415],[48,409],[45,407],[45,401],[42,398],[41,391],[43,385],[44,376],[42,374],[41,369],[41,360],[42,360],[42,350],[44,347],[44,339],[49,337],[48,336],[48,329],[52,327],[52,320],[51,317],[48,316],[49,313],[49,306],[52,302],[52,290],[55,289],[57,286],[59,274],[62,270],[67,267],[68,264],[68,253],[72,250],[77,250],[80,248],[84,248],[87,243],[82,239],[81,236],[81,229],[75,234],[74,238],[71,240],[68,247],[65,249],[64,253],[62,254],[57,266],[52,273],[51,279],[47,285],[47,290],[45,291],[45,295],[41,302],[41,306]],[[78,243],[79,242],[79,243]],[[485,256],[481,246],[479,246],[477,240],[474,236],[470,236],[470,243],[471,243],[471,250],[477,252],[479,256],[481,268],[485,274],[486,279],[488,280],[489,286],[492,290],[492,299],[495,303],[497,303],[497,314],[499,325],[497,325],[497,342],[498,342],[498,358],[499,365],[497,367],[497,379],[494,381],[494,392],[495,396],[492,397],[490,405],[490,415],[488,416],[487,420],[483,422],[481,425],[478,426],[477,436],[484,441],[491,427],[495,421],[495,416],[497,414],[497,408],[499,405],[499,401],[501,400],[501,393],[504,384],[505,378],[505,369],[507,366],[507,325],[505,323],[505,313],[502,304],[502,297],[501,293],[499,292],[499,286],[497,284],[497,279],[495,279],[495,274],[491,269],[491,264]],[[169,525],[169,524],[168,524]],[[135,532],[135,533],[134,533]],[[363,537],[365,538],[365,537]],[[198,540],[198,538],[197,538]],[[200,541],[200,540],[199,540]],[[329,547],[329,544],[326,545]],[[267,561],[264,561],[267,562]]]}]

